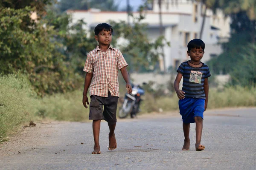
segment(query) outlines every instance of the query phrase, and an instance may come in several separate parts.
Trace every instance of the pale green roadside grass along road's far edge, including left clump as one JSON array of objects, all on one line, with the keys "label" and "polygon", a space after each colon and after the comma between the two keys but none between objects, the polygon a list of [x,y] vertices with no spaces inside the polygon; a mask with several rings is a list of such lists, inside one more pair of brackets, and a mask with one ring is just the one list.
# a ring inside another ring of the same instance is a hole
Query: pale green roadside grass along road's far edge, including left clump
[{"label": "pale green roadside grass along road's far edge, including left clump", "polygon": [[[125,87],[120,83],[120,97]],[[177,111],[178,98],[160,97],[154,99],[149,93],[143,96],[141,113]],[[119,107],[122,103],[119,102]],[[210,89],[208,108],[255,107],[256,88],[226,87],[223,90]],[[55,94],[38,98],[26,76],[21,74],[0,77],[0,142],[17,127],[38,119],[60,121],[88,121],[89,109],[82,104],[82,90],[66,94]]]}]

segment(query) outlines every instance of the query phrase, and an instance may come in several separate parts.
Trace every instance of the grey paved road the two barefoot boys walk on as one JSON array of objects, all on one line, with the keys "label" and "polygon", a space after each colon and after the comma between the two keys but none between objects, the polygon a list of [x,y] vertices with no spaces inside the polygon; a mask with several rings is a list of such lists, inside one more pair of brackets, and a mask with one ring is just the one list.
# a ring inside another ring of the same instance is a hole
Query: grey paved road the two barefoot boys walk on
[{"label": "grey paved road the two barefoot boys walk on", "polygon": [[36,139],[38,145],[17,144],[15,150],[20,153],[1,156],[0,169],[256,169],[256,108],[207,111],[202,137],[206,149],[201,152],[194,147],[195,124],[190,127],[191,150],[181,150],[183,130],[179,116],[119,121],[116,127],[118,148],[114,151],[108,151],[108,126],[102,122],[102,154],[99,155],[91,154],[91,123],[50,124],[41,127],[41,131],[47,127],[53,130],[48,135],[42,133],[41,138]]}]

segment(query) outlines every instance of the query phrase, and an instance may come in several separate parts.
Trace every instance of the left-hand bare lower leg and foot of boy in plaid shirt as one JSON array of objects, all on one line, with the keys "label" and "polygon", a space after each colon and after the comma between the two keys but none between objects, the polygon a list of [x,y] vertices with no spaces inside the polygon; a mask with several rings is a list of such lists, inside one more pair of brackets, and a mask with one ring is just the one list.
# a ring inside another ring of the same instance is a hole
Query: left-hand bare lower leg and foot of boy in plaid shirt
[{"label": "left-hand bare lower leg and foot of boy in plaid shirt", "polygon": [[92,154],[100,154],[99,146],[99,130],[101,120],[93,120],[93,138],[94,138],[94,150]]}]

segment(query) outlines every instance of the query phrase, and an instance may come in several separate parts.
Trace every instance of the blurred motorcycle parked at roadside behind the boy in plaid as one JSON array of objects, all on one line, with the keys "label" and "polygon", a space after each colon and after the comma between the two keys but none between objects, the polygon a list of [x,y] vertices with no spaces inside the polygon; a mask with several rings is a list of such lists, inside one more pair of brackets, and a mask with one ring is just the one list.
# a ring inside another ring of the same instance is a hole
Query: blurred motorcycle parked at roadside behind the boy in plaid
[{"label": "blurred motorcycle parked at roadside behind the boy in plaid", "polygon": [[145,94],[145,91],[140,85],[132,84],[131,94],[126,93],[122,107],[119,109],[119,118],[124,119],[129,114],[131,118],[134,118],[140,111],[140,102],[142,101],[141,96]]}]

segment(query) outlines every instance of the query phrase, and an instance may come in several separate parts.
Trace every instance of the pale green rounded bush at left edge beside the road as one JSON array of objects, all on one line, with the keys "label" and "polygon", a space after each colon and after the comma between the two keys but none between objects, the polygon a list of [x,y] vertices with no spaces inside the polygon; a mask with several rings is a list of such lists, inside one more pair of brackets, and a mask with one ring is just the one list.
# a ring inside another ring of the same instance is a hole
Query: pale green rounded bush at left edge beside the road
[{"label": "pale green rounded bush at left edge beside the road", "polygon": [[27,77],[21,74],[0,77],[0,141],[17,125],[32,119],[37,105],[35,96]]}]

